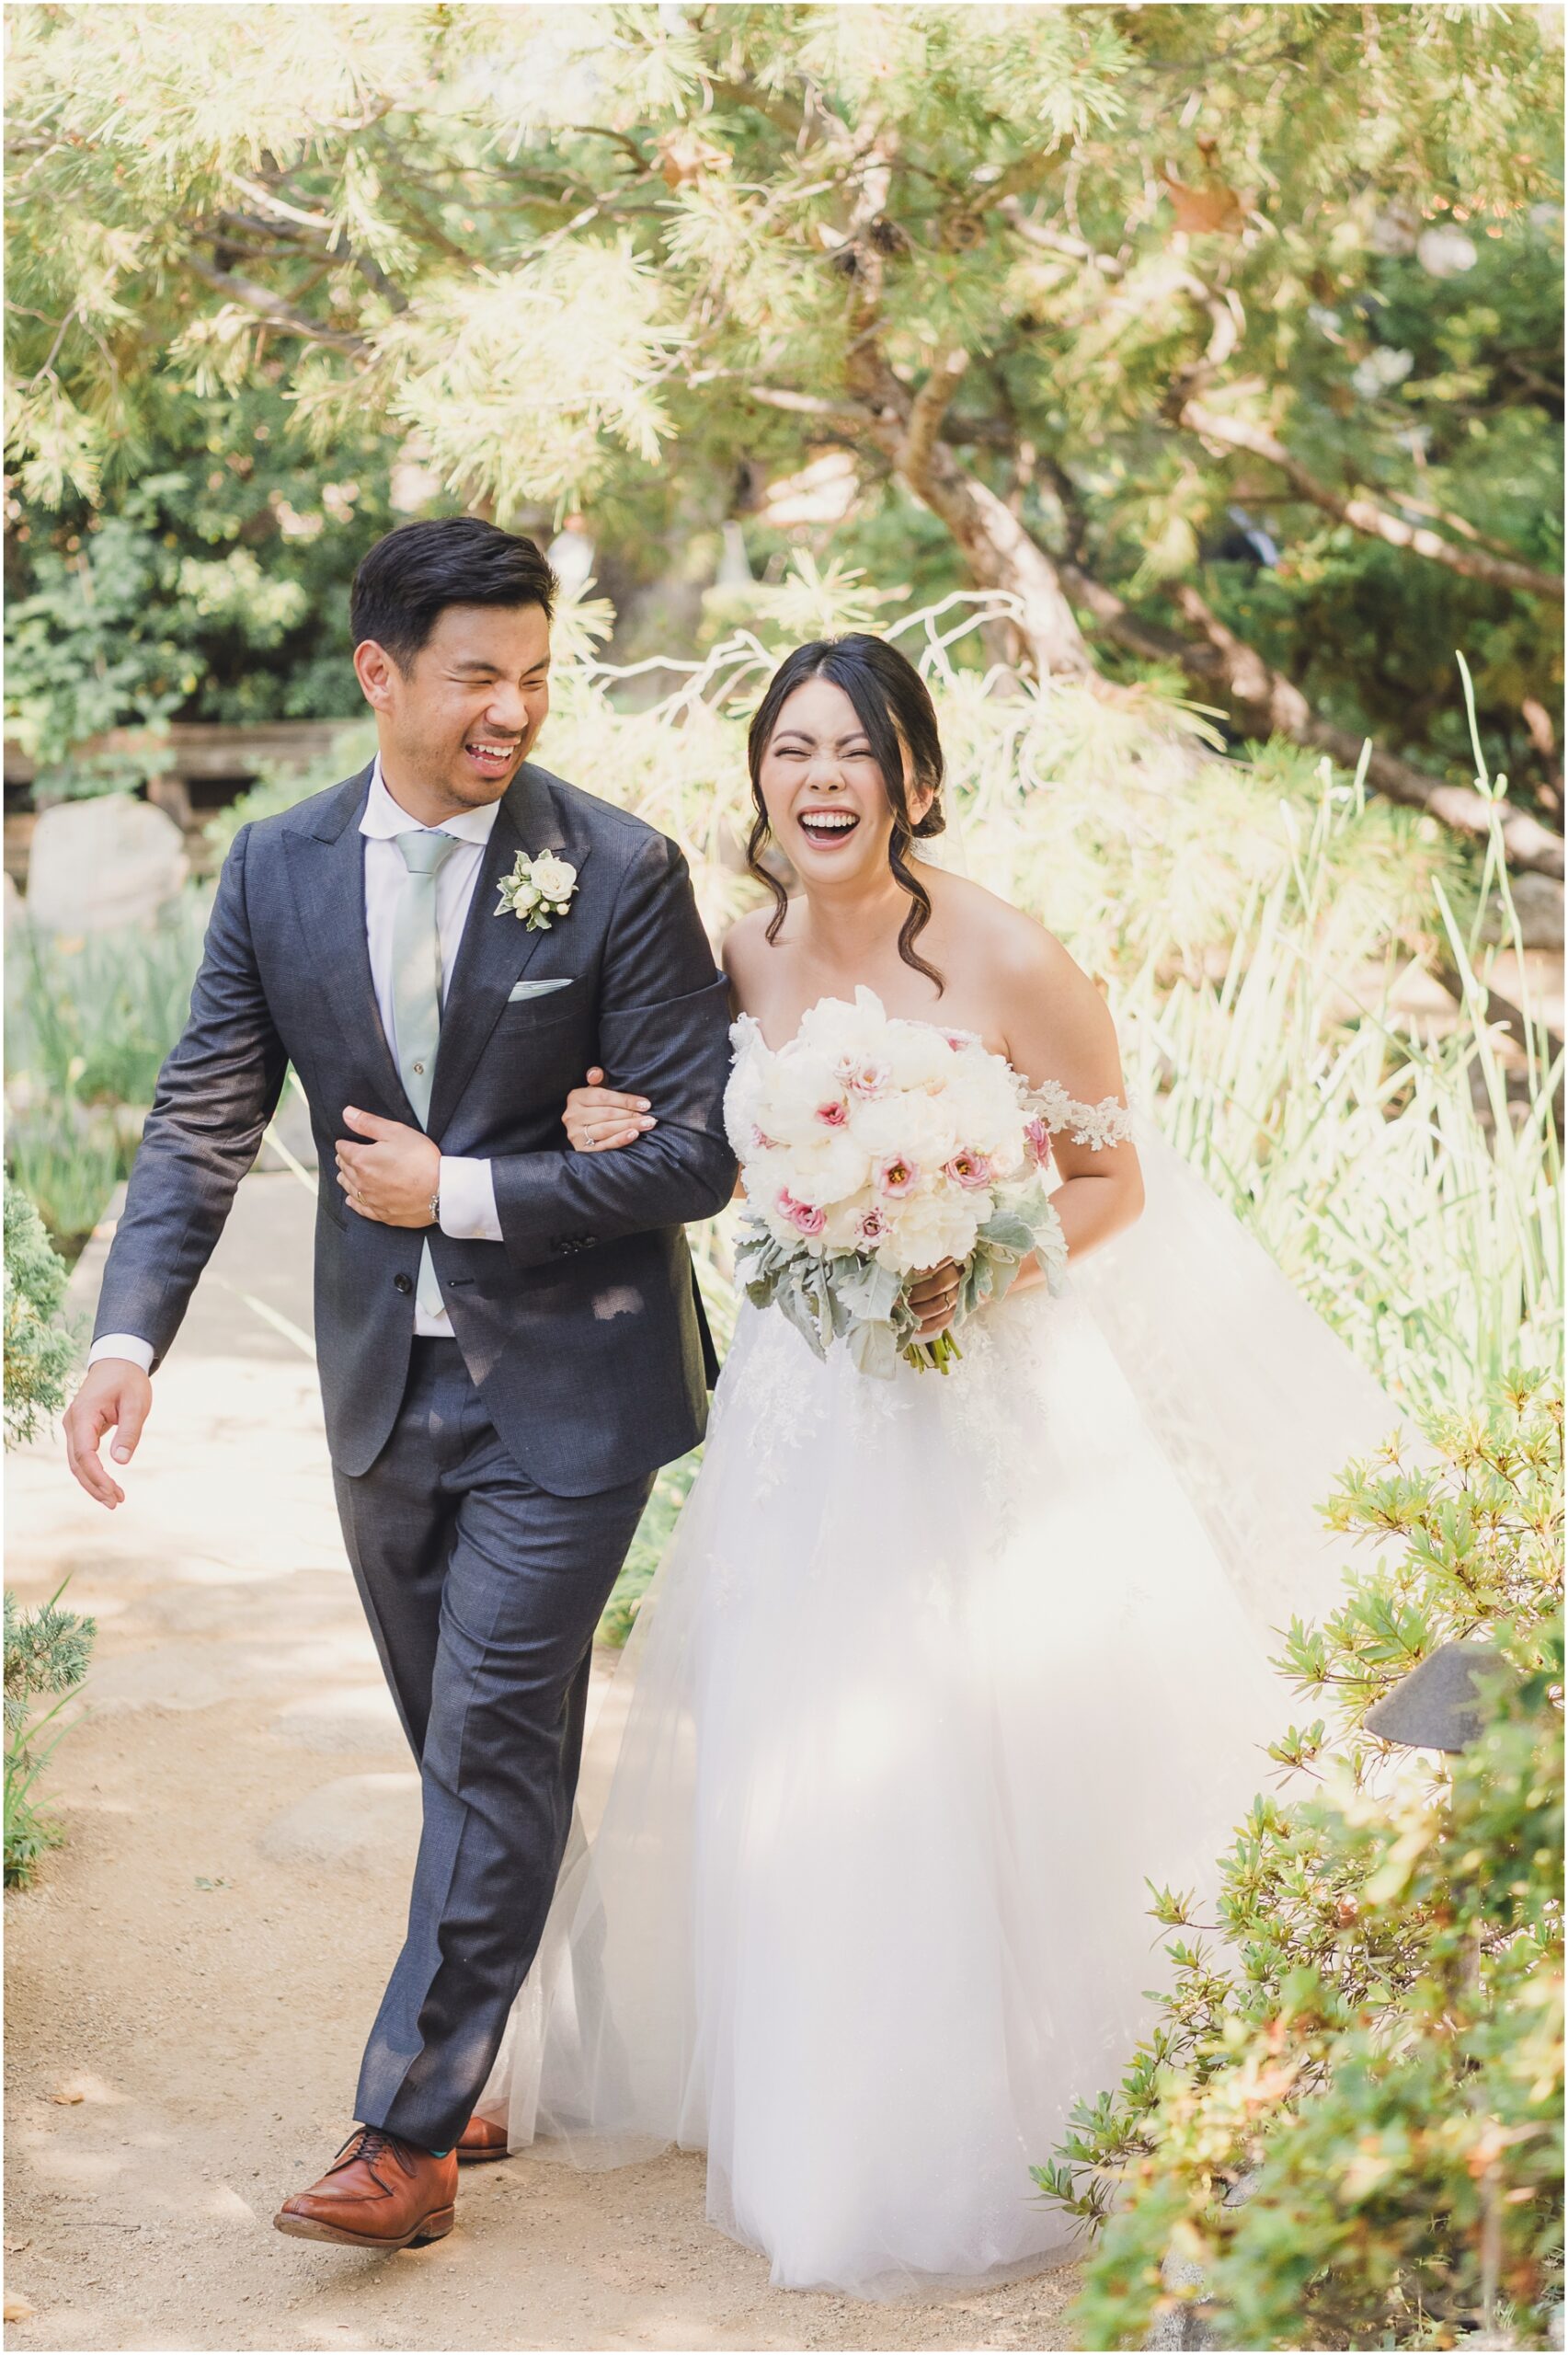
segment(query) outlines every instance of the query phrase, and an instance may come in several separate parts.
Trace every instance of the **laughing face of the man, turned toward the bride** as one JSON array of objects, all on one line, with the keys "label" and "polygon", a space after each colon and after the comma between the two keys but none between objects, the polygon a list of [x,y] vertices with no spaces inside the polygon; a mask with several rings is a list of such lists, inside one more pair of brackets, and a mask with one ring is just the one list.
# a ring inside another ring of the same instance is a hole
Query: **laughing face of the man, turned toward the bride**
[{"label": "laughing face of the man, turned toward the bride", "polygon": [[551,709],[551,624],[542,605],[445,605],[400,669],[363,645],[388,780],[483,810],[499,801]]}]

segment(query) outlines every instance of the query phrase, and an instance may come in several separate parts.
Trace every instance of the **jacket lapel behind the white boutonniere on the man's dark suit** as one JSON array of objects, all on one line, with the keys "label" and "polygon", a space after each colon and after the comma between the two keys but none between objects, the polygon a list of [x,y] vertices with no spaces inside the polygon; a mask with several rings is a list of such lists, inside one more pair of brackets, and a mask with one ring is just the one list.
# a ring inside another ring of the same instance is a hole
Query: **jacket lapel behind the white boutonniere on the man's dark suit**
[{"label": "jacket lapel behind the white boutonniere on the man's dark suit", "polygon": [[[534,860],[542,850],[558,850],[579,871],[589,855],[586,843],[577,843],[565,834],[544,772],[530,763],[523,763],[494,812],[494,827],[490,829],[473,900],[469,902],[461,947],[452,966],[452,980],[447,982],[431,1090],[428,1130],[433,1137],[440,1135],[461,1102],[461,1093],[473,1079],[476,1064],[490,1043],[490,1031],[499,1022],[516,982],[542,944],[553,937],[553,930],[530,933],[520,918],[497,914],[497,885],[501,876],[511,874],[518,850],[525,850]],[[556,918],[556,923],[570,921],[570,914]]]}]

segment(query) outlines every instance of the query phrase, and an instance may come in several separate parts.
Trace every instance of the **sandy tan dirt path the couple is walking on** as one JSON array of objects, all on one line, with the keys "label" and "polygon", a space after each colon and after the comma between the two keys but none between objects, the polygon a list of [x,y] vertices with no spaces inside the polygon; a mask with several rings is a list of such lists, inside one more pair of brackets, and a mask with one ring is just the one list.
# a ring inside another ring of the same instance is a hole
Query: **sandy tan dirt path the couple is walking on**
[{"label": "sandy tan dirt path the couple is walking on", "polygon": [[68,1571],[99,1653],[49,1773],[68,1846],[5,1905],[5,2273],[33,2306],[7,2343],[1059,2348],[1059,2273],[930,2306],[770,2289],[683,2155],[476,2169],[452,2237],[396,2258],[273,2233],[346,2131],[417,1837],[290,1338],[308,1222],[292,1178],[240,1189],[125,1510],[54,1444],[9,1460],[7,1580],[31,1604]]}]

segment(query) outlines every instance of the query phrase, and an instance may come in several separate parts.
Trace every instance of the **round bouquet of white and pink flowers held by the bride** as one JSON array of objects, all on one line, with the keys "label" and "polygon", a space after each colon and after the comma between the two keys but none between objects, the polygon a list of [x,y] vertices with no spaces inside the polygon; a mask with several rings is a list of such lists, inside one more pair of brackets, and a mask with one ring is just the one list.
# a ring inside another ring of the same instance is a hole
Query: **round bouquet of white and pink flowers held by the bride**
[{"label": "round bouquet of white and pink flowers held by the bride", "polygon": [[902,1022],[871,989],[822,999],[789,1046],[751,1034],[727,1095],[746,1182],[737,1274],[817,1356],[845,1340],[862,1373],[899,1359],[946,1373],[954,1333],[916,1338],[909,1283],[961,1269],[954,1326],[1001,1298],[1022,1260],[1067,1262],[1045,1196],[1050,1123],[972,1031]]}]

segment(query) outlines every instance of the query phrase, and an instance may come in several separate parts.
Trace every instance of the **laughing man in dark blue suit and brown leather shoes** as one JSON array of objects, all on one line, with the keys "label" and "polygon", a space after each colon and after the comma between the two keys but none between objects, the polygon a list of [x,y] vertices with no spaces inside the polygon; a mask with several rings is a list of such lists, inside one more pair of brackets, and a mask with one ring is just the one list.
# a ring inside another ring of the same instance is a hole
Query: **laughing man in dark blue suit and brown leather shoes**
[{"label": "laughing man in dark blue suit and brown leather shoes", "polygon": [[[735,1182],[725,982],[676,845],[527,761],[553,591],[473,516],[365,556],[377,758],[235,836],[66,1413],[120,1505],[99,1441],[134,1453],[292,1064],[344,1543],[424,1783],[360,2127],[275,2218],[360,2249],[450,2230],[459,2155],[499,2155],[471,2108],[556,1886],[593,1630],[716,1371],[680,1227]],[[659,1107],[624,1152],[565,1147],[589,1064]]]}]

